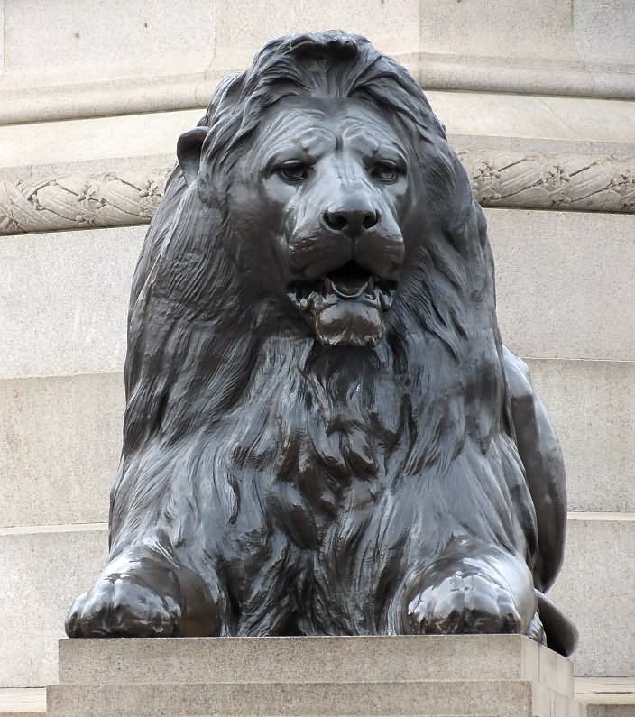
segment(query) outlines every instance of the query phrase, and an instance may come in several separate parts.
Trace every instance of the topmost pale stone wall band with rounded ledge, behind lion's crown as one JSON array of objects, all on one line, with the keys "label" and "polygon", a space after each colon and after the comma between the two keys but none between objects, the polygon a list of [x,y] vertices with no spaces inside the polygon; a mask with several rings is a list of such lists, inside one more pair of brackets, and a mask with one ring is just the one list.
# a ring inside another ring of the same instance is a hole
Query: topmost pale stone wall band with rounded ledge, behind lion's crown
[{"label": "topmost pale stone wall band with rounded ledge, behind lion's crown", "polygon": [[[280,0],[244,7],[154,0],[124,10],[112,5],[99,14],[89,6],[67,7],[65,23],[52,25],[48,13],[32,14],[34,5],[35,0],[9,3],[5,11],[3,122],[203,106],[218,78],[244,67],[262,41],[328,27],[366,33],[410,65],[428,88],[635,95],[629,0],[542,0],[539,13],[533,0],[521,0],[513,14],[504,0],[327,0],[297,7]],[[126,22],[114,20],[123,14]],[[35,21],[22,31],[21,23],[31,17]],[[102,32],[105,26],[108,32]],[[32,53],[42,37],[45,49]]]}]

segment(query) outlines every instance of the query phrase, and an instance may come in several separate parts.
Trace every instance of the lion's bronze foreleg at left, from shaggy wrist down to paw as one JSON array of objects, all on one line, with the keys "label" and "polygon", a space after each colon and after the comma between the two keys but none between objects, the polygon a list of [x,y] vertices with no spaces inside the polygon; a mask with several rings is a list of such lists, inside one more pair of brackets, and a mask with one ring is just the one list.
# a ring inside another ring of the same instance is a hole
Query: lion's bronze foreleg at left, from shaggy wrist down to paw
[{"label": "lion's bronze foreleg at left, from shaggy wrist down to paw", "polygon": [[184,566],[165,538],[124,548],[66,621],[71,638],[219,635],[228,601],[213,570],[205,581]]}]

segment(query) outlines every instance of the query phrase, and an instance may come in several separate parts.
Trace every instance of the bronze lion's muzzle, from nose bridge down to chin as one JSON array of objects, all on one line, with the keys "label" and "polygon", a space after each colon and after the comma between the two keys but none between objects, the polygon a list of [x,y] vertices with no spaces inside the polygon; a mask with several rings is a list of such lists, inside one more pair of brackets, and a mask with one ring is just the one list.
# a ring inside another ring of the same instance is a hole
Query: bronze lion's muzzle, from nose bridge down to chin
[{"label": "bronze lion's muzzle, from nose bridge down to chin", "polygon": [[384,335],[405,249],[382,187],[352,159],[334,161],[291,214],[289,297],[322,344],[372,347]]}]

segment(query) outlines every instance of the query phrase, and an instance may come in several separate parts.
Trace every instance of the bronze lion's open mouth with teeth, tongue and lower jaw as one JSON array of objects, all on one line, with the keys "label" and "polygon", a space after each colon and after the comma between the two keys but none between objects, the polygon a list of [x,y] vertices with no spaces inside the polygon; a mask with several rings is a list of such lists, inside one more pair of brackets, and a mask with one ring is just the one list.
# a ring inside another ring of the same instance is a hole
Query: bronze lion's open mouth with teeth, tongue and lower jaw
[{"label": "bronze lion's open mouth with teeth, tongue and lower jaw", "polygon": [[318,280],[291,283],[288,295],[313,318],[322,344],[376,346],[384,332],[382,314],[391,308],[396,288],[395,281],[348,262]]}]

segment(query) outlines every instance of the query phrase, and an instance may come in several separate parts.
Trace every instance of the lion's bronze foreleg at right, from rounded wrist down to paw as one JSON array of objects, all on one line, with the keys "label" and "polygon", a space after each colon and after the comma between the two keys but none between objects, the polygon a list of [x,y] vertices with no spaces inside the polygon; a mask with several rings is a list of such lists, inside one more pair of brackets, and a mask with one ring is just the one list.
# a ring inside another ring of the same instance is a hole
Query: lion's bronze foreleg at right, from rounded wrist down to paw
[{"label": "lion's bronze foreleg at right, from rounded wrist down to paw", "polygon": [[[415,634],[535,634],[537,604],[529,567],[502,547],[462,541],[423,570],[410,571],[397,622]],[[397,617],[397,616],[395,616]]]}]

